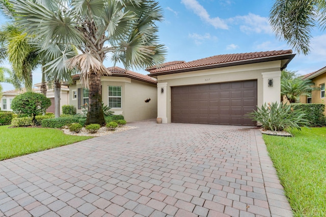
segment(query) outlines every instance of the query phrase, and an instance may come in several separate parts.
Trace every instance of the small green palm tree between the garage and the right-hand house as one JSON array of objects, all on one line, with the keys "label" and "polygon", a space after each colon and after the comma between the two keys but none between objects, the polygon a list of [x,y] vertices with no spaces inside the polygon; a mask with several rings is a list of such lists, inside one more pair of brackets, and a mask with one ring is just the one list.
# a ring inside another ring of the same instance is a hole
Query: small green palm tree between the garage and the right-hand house
[{"label": "small green palm tree between the garage and the right-hand house", "polygon": [[283,70],[281,73],[281,100],[286,96],[289,103],[297,103],[300,96],[311,96],[312,90],[319,89],[314,87],[311,80],[303,80],[301,77],[295,75],[296,72]]}]

